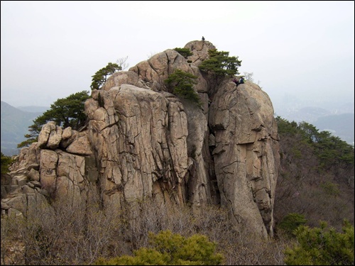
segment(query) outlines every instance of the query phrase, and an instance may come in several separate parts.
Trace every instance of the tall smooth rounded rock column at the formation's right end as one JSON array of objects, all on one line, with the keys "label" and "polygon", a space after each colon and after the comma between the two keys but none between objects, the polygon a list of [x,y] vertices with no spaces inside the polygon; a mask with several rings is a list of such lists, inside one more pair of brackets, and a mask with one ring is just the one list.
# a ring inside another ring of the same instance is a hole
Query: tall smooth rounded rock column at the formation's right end
[{"label": "tall smooth rounded rock column at the formation's right end", "polygon": [[[268,95],[251,82],[219,87],[209,112],[222,205],[261,235],[273,231],[278,135]],[[258,215],[260,214],[260,215]]]}]

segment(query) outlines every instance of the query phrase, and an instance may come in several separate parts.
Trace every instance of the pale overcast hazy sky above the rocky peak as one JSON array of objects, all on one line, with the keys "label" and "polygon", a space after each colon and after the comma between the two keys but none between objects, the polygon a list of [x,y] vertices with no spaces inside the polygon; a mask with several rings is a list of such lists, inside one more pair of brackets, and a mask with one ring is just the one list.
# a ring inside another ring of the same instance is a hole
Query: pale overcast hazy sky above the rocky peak
[{"label": "pale overcast hazy sky above the rocky peak", "polygon": [[354,1],[1,1],[1,101],[50,106],[202,35],[273,103],[354,103]]}]

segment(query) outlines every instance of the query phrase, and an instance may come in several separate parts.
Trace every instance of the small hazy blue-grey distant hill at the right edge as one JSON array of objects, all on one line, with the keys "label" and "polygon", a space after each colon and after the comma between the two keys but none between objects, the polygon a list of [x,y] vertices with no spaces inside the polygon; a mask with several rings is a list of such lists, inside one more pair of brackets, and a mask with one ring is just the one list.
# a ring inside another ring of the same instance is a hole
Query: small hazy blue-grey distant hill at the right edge
[{"label": "small hazy blue-grey distant hill at the right edge", "polygon": [[329,131],[349,144],[354,144],[354,113],[322,116],[312,123],[320,131]]}]

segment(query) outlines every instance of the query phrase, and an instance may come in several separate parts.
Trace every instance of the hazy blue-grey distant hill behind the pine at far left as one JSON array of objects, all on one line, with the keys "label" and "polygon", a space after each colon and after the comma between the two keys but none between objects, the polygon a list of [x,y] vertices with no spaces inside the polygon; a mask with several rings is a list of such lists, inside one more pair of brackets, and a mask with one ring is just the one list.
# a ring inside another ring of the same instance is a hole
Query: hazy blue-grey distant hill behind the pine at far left
[{"label": "hazy blue-grey distant hill behind the pine at far left", "polygon": [[26,140],[24,135],[29,133],[28,126],[42,113],[21,111],[1,101],[1,153],[8,156],[17,155],[17,145]]}]

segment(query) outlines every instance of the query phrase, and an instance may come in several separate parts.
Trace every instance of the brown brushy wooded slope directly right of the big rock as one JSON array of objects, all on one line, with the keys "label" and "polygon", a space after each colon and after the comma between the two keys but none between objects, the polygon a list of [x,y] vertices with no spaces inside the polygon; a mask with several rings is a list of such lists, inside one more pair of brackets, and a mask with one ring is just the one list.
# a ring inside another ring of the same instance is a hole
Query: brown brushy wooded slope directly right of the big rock
[{"label": "brown brushy wooded slope directly right of the big rock", "polygon": [[310,123],[277,117],[281,171],[275,192],[275,221],[302,214],[307,226],[327,221],[337,230],[343,218],[354,226],[354,146]]}]

